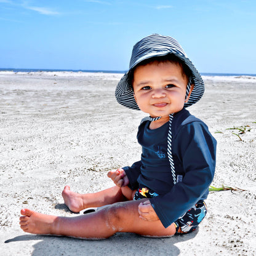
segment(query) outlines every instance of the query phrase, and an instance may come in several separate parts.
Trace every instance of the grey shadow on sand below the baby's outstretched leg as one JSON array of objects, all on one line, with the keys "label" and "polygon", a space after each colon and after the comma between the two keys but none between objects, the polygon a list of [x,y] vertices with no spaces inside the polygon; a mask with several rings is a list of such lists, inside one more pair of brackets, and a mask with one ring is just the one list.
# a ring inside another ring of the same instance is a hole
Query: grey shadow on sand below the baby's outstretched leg
[{"label": "grey shadow on sand below the baby's outstretched leg", "polygon": [[[132,233],[117,233],[103,240],[82,240],[64,236],[45,236],[24,234],[5,241],[40,240],[33,245],[31,255],[179,255],[180,250],[175,246],[178,242],[193,239],[198,230],[183,236],[172,238],[145,238]],[[24,243],[24,246],[26,244]]]}]

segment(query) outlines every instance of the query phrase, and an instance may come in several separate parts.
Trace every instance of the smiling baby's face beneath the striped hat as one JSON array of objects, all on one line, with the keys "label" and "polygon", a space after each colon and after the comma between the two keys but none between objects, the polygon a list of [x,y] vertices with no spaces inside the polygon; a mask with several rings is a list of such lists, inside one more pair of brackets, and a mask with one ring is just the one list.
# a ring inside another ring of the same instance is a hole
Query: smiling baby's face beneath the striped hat
[{"label": "smiling baby's face beneath the striped hat", "polygon": [[134,98],[140,110],[152,118],[169,116],[182,110],[187,84],[178,64],[152,62],[135,69]]}]

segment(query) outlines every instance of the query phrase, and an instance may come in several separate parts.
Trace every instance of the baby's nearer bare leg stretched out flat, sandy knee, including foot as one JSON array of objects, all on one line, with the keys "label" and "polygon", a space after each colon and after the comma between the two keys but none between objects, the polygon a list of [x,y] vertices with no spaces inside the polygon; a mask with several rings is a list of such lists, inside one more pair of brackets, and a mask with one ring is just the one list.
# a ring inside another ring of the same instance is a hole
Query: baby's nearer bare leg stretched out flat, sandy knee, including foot
[{"label": "baby's nearer bare leg stretched out flat, sandy knee, including foot", "polygon": [[108,238],[116,232],[131,232],[146,236],[172,236],[175,233],[174,224],[164,228],[159,220],[147,222],[140,219],[139,203],[139,201],[119,202],[78,217],[55,217],[23,209],[20,227],[23,231],[33,234],[54,234],[84,239]]}]

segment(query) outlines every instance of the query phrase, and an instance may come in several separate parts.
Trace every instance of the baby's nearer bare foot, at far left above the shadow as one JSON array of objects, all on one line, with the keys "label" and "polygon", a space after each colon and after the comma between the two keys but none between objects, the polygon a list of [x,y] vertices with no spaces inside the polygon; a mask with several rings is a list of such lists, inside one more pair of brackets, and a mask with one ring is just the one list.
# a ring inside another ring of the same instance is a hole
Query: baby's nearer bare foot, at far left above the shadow
[{"label": "baby's nearer bare foot, at far left above the shadow", "polygon": [[29,209],[22,209],[20,213],[20,228],[31,234],[52,234],[54,220],[57,218],[52,215],[39,214]]}]

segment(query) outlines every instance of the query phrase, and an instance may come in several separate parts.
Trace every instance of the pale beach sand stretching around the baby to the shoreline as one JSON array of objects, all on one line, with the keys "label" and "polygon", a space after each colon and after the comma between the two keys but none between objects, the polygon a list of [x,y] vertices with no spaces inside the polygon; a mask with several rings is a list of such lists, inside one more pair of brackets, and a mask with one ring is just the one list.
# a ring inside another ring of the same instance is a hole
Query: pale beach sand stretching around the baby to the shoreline
[{"label": "pale beach sand stretching around the baby to the shoreline", "polygon": [[[121,76],[0,72],[0,254],[256,255],[256,78],[246,76],[204,77],[204,97],[188,108],[218,142],[212,185],[246,190],[211,192],[197,231],[86,241],[20,229],[20,209],[76,216],[63,204],[65,185],[78,193],[103,190],[113,186],[109,170],[140,159],[136,134],[145,114],[116,102]],[[239,135],[234,127],[246,132]]]}]

